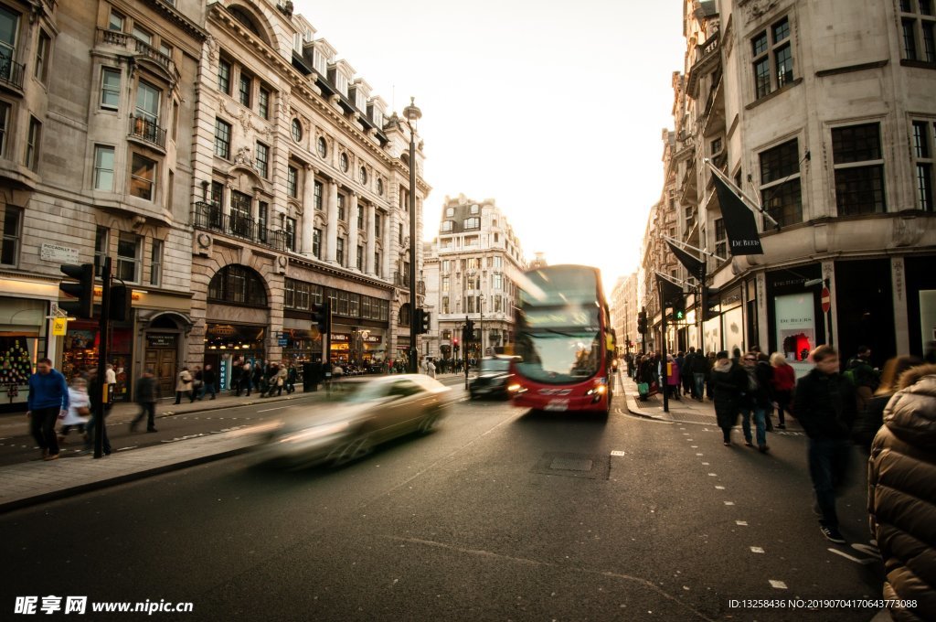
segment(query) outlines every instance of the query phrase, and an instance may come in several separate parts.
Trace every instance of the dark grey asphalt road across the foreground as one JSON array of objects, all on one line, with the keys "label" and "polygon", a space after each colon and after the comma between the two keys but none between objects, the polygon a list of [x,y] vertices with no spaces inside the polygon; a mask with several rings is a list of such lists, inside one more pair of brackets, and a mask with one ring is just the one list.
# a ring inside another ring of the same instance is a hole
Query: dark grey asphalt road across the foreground
[{"label": "dark grey asphalt road across the foreground", "polygon": [[338,470],[246,455],[2,516],[0,616],[51,594],[192,602],[150,616],[180,620],[870,620],[732,607],[880,598],[864,465],[840,502],[856,544],[836,546],[812,516],[805,438],[770,444],[461,402]]}]

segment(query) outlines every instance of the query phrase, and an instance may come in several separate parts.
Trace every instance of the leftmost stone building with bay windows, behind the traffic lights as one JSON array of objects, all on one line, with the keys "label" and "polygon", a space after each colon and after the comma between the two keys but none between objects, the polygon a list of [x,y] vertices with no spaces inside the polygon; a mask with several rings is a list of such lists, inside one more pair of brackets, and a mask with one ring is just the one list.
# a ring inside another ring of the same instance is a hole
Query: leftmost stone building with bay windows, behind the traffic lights
[{"label": "leftmost stone building with bay windows, behind the traffic lights", "polygon": [[[62,264],[110,257],[133,291],[132,318],[111,331],[117,398],[144,365],[174,376],[191,327],[185,197],[202,14],[191,0],[0,2],[4,369],[42,356],[68,375],[96,365],[96,319],[56,336],[47,317]],[[24,378],[2,384],[22,407]]]}]

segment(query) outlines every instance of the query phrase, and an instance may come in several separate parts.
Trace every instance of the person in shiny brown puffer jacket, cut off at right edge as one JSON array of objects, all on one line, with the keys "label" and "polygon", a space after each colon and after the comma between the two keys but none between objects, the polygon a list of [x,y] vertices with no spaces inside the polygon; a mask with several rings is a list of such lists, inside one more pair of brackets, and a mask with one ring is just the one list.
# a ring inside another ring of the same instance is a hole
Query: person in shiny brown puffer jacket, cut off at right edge
[{"label": "person in shiny brown puffer jacket, cut off at right edge", "polygon": [[936,620],[936,365],[900,377],[868,463],[871,533],[884,559],[884,598],[900,622]]}]

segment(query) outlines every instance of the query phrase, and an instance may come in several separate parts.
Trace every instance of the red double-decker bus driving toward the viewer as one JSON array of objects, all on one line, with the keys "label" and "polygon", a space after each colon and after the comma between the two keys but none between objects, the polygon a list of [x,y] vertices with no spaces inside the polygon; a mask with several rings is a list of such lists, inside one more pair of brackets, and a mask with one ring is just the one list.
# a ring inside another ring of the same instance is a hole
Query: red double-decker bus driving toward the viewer
[{"label": "red double-decker bus driving toward the viewer", "polygon": [[607,415],[617,348],[601,272],[547,266],[519,278],[511,386],[515,406]]}]

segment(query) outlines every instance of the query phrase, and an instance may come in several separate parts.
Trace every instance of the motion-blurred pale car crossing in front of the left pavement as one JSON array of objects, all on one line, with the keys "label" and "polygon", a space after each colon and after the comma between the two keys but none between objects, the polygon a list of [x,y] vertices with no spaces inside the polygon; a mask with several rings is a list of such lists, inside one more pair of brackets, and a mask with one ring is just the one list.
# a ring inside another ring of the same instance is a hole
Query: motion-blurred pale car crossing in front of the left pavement
[{"label": "motion-blurred pale car crossing in front of the left pavement", "polygon": [[380,443],[429,433],[451,402],[444,384],[417,374],[346,380],[335,401],[280,423],[258,447],[261,460],[286,466],[358,460]]}]

